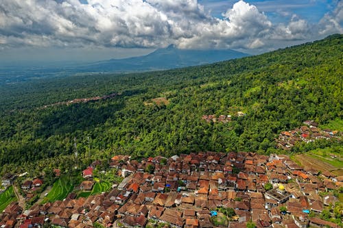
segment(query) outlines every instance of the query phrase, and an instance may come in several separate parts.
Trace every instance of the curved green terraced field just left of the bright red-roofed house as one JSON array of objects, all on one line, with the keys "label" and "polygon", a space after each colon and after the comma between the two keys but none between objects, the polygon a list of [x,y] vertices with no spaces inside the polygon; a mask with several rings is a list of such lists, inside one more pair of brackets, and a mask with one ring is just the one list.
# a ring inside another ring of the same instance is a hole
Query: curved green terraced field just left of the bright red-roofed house
[{"label": "curved green terraced field just left of the bright red-roofed house", "polygon": [[54,186],[52,186],[50,192],[47,194],[47,197],[43,199],[42,203],[65,199],[69,192],[73,190],[73,188],[74,186],[71,178],[67,176],[61,176],[58,181],[55,181]]}]

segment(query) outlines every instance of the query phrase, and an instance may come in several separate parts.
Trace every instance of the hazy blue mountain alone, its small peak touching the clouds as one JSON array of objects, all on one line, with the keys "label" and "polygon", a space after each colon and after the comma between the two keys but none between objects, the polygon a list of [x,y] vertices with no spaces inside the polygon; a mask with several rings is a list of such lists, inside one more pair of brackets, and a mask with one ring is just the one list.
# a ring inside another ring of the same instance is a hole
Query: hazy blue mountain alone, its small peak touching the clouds
[{"label": "hazy blue mountain alone, its small peak touching the clouds", "polygon": [[169,45],[147,55],[85,64],[78,69],[86,72],[154,71],[211,64],[246,56],[249,55],[230,49],[189,50],[178,49],[175,45]]}]

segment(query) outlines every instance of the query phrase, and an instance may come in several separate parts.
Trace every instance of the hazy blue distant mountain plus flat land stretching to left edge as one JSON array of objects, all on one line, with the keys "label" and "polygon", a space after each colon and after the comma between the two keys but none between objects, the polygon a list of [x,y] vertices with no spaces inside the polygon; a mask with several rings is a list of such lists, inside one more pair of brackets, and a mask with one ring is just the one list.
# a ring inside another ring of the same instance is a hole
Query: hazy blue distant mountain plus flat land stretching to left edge
[{"label": "hazy blue distant mountain plus flat land stretching to left edge", "polygon": [[40,66],[0,66],[0,84],[10,84],[32,79],[66,77],[75,73],[134,73],[157,71],[186,66],[211,64],[235,58],[249,56],[246,53],[230,49],[187,50],[169,45],[156,49],[150,54],[119,60],[105,60],[86,64],[58,63]]}]

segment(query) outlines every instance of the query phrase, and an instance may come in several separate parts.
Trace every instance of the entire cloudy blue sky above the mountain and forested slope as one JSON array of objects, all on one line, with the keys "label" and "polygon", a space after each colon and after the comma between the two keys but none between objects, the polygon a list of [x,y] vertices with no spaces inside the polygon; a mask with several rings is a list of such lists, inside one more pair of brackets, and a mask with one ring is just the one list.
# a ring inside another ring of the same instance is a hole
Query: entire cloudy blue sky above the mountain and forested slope
[{"label": "entire cloudy blue sky above the mountain and forested slope", "polygon": [[1,0],[0,62],[91,62],[180,49],[250,54],[343,34],[338,0]]}]

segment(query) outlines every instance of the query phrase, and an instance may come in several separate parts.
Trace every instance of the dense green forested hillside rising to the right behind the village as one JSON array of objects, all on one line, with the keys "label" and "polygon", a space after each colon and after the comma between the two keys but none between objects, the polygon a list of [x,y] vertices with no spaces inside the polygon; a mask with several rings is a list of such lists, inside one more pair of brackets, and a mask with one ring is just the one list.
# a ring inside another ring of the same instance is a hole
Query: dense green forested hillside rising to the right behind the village
[{"label": "dense green forested hillside rising to the right behind the village", "polygon": [[[306,120],[324,125],[342,119],[342,38],[170,71],[3,85],[3,172],[11,164],[52,162],[49,157],[75,152],[138,159],[207,150],[278,152],[274,139],[281,131]],[[51,105],[113,93],[120,95]],[[212,114],[230,115],[230,121],[202,119]],[[333,146],[342,147],[342,141],[300,143],[291,152]]]}]

